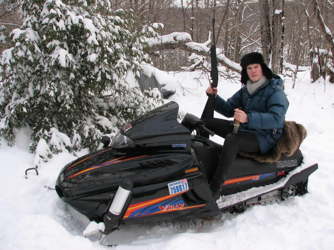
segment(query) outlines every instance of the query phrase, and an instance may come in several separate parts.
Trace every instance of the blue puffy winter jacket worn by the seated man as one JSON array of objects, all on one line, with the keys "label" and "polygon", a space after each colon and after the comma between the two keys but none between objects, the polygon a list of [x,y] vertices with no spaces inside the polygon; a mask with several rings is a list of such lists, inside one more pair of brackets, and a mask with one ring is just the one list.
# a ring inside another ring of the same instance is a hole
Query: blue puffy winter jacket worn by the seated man
[{"label": "blue puffy winter jacket worn by the seated man", "polygon": [[[259,141],[262,153],[272,149],[282,135],[285,114],[289,101],[282,89],[283,81],[273,75],[253,94],[249,95],[246,85],[227,101],[217,96],[214,110],[225,117],[233,117],[234,109],[242,107],[248,122],[240,123],[239,131],[253,133]],[[231,121],[232,125],[233,121]]]}]

